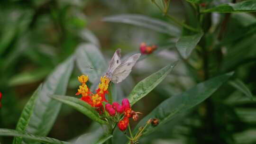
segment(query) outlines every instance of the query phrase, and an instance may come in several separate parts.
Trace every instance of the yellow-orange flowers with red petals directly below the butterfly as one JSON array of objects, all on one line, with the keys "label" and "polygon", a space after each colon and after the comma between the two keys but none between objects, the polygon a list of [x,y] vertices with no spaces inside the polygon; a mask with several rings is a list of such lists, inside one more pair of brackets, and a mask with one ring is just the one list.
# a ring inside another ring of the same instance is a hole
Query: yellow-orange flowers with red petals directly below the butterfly
[{"label": "yellow-orange flowers with red petals directly below the butterfly", "polygon": [[78,81],[81,83],[81,85],[79,86],[76,95],[81,94],[81,99],[90,104],[91,107],[101,108],[103,101],[108,102],[105,98],[105,94],[108,93],[110,79],[106,78],[106,76],[101,77],[101,83],[99,84],[99,88],[96,90],[96,94],[93,94],[86,85],[88,80],[89,78],[86,75],[78,77]]}]

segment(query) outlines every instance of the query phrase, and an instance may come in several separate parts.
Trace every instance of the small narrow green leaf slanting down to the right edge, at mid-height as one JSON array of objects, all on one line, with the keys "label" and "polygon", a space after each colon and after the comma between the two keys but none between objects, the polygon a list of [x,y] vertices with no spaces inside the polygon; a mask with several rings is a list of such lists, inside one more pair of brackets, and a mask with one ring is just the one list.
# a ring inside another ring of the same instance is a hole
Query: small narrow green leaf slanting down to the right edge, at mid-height
[{"label": "small narrow green leaf slanting down to the right edge, at mid-height", "polygon": [[234,88],[238,89],[239,91],[241,91],[242,93],[244,93],[247,96],[247,98],[251,99],[252,101],[255,100],[253,94],[247,88],[243,81],[236,79],[235,81],[229,81],[229,84],[232,85]]}]

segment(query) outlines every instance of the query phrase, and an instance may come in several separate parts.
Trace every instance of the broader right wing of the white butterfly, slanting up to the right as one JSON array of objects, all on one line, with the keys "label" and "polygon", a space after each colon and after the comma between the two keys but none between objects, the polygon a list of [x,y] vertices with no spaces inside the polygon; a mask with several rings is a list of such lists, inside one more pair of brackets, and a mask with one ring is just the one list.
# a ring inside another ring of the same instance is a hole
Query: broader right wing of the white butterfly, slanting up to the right
[{"label": "broader right wing of the white butterfly, slanting up to the right", "polygon": [[135,65],[141,54],[134,54],[122,62],[113,72],[111,81],[119,83],[123,81],[131,72],[132,67]]}]

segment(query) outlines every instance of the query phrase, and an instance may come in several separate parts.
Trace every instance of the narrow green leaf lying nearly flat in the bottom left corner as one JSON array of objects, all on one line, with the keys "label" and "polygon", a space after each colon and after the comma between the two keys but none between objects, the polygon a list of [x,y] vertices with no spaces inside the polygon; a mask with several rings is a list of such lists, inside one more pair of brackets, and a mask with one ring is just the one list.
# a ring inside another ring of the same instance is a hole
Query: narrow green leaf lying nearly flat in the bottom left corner
[{"label": "narrow green leaf lying nearly flat in the bottom left corner", "polygon": [[2,135],[2,136],[23,137],[23,138],[26,138],[26,139],[30,139],[30,140],[45,143],[45,144],[71,144],[71,143],[68,143],[68,142],[63,142],[63,141],[57,140],[55,138],[32,135],[32,134],[25,133],[25,132],[18,132],[18,131],[13,130],[13,129],[0,128],[0,135]]}]

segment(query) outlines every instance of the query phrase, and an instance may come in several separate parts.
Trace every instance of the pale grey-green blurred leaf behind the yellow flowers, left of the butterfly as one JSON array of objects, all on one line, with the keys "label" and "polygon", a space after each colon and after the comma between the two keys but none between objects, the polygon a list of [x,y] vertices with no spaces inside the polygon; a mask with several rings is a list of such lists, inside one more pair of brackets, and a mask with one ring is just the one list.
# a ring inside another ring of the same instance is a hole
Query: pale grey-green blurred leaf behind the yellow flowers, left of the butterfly
[{"label": "pale grey-green blurred leaf behind the yellow flowers, left of the butterfly", "polygon": [[96,45],[90,43],[79,45],[75,56],[78,68],[89,76],[89,81],[92,83],[101,77],[102,71],[107,69],[107,63]]}]

